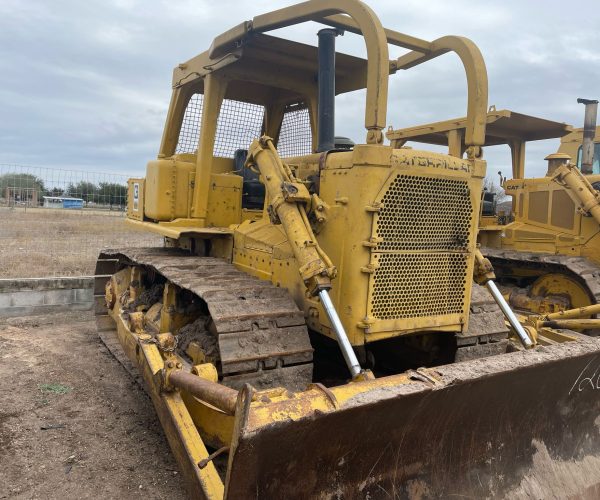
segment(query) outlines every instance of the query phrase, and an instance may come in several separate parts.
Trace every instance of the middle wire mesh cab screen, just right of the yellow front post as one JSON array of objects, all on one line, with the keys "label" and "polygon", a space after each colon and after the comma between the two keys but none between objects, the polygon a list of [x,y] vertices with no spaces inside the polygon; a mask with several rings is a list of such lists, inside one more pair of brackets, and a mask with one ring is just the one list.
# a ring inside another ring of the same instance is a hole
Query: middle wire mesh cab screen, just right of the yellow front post
[{"label": "middle wire mesh cab screen, just right of the yellow front post", "polygon": [[224,99],[217,120],[213,155],[233,158],[236,149],[248,149],[262,132],[265,108],[259,104]]}]

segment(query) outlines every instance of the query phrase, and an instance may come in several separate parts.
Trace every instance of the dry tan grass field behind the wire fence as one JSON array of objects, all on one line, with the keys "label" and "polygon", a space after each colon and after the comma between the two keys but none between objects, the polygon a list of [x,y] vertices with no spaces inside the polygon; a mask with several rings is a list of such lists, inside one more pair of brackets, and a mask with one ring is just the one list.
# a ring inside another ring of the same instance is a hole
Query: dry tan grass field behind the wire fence
[{"label": "dry tan grass field behind the wire fence", "polygon": [[94,273],[103,248],[162,246],[122,212],[0,207],[0,278]]}]

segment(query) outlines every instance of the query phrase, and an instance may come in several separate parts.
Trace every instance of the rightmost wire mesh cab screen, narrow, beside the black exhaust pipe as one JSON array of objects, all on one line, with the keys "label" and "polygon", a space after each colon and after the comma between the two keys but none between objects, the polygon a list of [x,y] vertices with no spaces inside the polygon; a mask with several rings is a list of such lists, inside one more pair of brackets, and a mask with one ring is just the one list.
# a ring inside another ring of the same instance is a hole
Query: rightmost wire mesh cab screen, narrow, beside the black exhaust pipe
[{"label": "rightmost wire mesh cab screen, narrow, beside the black exhaust pipe", "polygon": [[310,115],[305,103],[291,104],[286,107],[277,141],[277,151],[284,158],[312,153]]}]

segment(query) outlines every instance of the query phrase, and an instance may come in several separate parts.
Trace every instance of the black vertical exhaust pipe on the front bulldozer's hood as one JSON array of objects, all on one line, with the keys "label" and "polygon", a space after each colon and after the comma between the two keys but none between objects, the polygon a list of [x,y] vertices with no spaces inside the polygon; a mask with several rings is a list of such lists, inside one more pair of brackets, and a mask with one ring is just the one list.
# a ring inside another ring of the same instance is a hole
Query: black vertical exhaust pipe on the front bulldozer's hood
[{"label": "black vertical exhaust pipe on the front bulldozer's hood", "polygon": [[319,101],[317,118],[317,153],[335,148],[335,37],[333,28],[319,31]]}]

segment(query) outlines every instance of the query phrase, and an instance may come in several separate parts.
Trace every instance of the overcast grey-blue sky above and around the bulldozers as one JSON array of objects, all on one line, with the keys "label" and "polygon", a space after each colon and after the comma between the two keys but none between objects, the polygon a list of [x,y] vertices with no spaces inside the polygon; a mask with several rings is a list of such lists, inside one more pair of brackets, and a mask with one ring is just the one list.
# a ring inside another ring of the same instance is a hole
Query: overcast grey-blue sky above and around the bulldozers
[{"label": "overcast grey-blue sky above and around the bulldozers", "polygon": [[[155,158],[172,69],[257,14],[291,5],[254,0],[0,0],[0,163],[143,175]],[[598,0],[371,0],[386,27],[433,40],[462,35],[486,61],[489,104],[583,123],[578,97],[600,98]],[[318,26],[275,34],[316,45]],[[362,40],[337,48],[365,55]],[[398,57],[402,49],[392,48]],[[336,134],[364,141],[364,93],[338,97]],[[464,116],[466,80],[453,54],[391,77],[388,125]],[[558,140],[528,145],[526,172],[543,175]],[[506,147],[488,173],[510,177]]]}]

